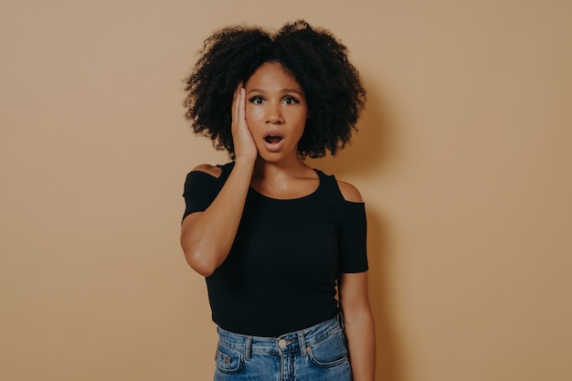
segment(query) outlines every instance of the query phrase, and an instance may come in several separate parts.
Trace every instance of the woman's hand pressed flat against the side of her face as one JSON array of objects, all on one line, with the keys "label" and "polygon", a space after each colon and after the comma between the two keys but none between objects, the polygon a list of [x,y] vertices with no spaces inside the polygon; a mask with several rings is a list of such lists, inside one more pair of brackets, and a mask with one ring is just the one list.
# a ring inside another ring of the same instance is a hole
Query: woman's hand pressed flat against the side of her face
[{"label": "woman's hand pressed flat against the side of her face", "polygon": [[231,132],[237,161],[238,158],[245,158],[252,160],[252,163],[254,163],[259,151],[256,148],[246,120],[246,90],[243,88],[242,82],[238,83],[232,100]]}]

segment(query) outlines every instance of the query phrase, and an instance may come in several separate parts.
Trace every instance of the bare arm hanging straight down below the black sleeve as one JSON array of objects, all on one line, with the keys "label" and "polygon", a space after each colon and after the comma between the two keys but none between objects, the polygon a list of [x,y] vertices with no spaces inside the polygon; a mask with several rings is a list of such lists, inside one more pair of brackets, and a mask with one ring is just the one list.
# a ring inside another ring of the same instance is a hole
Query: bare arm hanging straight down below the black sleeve
[{"label": "bare arm hanging straight down below the black sleeve", "polygon": [[339,289],[354,381],[374,381],[376,333],[367,295],[367,272],[342,274]]}]

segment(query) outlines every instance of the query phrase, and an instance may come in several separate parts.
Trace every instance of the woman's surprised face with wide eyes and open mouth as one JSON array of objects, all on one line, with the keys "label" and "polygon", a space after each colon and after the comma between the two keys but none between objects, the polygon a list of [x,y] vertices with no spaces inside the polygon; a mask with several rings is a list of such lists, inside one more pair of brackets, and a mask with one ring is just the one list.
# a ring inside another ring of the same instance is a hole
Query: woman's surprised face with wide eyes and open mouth
[{"label": "woman's surprised face with wide eyes and open mouth", "polygon": [[302,86],[281,64],[260,66],[245,85],[246,121],[263,160],[298,155],[308,105]]}]

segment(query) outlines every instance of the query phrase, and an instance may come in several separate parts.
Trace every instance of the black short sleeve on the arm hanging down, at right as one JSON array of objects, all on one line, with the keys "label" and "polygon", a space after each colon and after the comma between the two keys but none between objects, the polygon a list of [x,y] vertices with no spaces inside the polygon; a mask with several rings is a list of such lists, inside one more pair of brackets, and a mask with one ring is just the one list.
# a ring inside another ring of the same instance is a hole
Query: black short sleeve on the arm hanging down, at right
[{"label": "black short sleeve on the arm hanging down, at right", "polygon": [[354,273],[368,270],[365,204],[344,201],[340,207],[338,233],[339,270]]}]

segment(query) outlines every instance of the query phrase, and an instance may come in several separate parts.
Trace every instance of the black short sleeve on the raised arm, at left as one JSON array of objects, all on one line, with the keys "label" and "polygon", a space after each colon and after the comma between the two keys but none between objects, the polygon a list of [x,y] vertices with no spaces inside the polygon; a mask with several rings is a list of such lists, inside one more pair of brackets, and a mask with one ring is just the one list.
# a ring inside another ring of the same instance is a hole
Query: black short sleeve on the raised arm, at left
[{"label": "black short sleeve on the raised arm, at left", "polygon": [[195,212],[203,212],[212,204],[218,194],[217,178],[205,172],[193,171],[186,175],[185,214],[183,219]]}]

